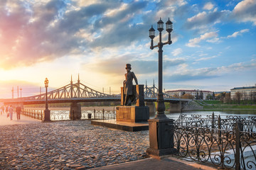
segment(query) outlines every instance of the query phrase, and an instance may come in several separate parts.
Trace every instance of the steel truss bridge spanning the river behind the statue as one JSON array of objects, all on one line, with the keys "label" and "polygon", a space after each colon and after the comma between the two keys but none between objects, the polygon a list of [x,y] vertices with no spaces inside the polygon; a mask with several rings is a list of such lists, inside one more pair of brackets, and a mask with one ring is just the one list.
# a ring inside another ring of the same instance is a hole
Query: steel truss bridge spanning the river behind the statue
[{"label": "steel truss bridge spanning the river behind the statue", "polygon": [[[144,88],[144,97],[145,101],[156,101],[158,89],[156,86]],[[91,89],[85,84],[80,82],[78,77],[78,82],[73,83],[72,79],[70,84],[60,87],[59,89],[55,89],[53,91],[49,91],[47,93],[48,103],[78,103],[78,102],[97,102],[97,101],[121,101],[120,95],[110,95],[104,94],[100,91],[96,91]],[[168,94],[164,94],[164,100],[166,102],[178,103],[179,101],[186,101],[186,99],[174,98],[169,96]],[[46,103],[46,94],[38,94],[36,96],[28,96],[23,98],[7,98],[0,99],[0,102],[5,104],[40,104]]]}]

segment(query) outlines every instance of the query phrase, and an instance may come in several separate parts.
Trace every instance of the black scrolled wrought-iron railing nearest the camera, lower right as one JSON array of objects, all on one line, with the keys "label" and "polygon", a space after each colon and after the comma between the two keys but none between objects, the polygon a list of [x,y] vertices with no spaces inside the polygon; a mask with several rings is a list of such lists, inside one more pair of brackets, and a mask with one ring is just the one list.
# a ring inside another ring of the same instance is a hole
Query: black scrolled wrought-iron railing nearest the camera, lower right
[{"label": "black scrolled wrought-iron railing nearest the camera, lower right", "polygon": [[256,132],[175,125],[174,147],[179,157],[208,162],[224,169],[256,169]]}]

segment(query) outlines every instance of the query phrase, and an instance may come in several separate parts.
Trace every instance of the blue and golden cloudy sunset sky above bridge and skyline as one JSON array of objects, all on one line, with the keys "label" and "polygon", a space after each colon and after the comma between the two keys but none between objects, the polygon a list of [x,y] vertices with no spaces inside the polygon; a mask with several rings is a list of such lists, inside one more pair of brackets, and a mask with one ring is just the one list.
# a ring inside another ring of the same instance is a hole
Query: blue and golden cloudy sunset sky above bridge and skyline
[{"label": "blue and golden cloudy sunset sky above bridge and skyline", "polygon": [[127,63],[139,84],[157,86],[149,28],[159,18],[174,27],[163,47],[165,91],[255,86],[256,0],[1,0],[0,98],[11,98],[12,87],[17,98],[17,86],[19,96],[43,93],[46,77],[58,89],[78,74],[96,91],[119,94]]}]

